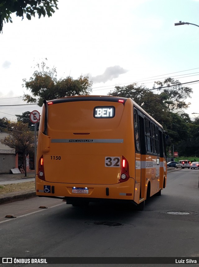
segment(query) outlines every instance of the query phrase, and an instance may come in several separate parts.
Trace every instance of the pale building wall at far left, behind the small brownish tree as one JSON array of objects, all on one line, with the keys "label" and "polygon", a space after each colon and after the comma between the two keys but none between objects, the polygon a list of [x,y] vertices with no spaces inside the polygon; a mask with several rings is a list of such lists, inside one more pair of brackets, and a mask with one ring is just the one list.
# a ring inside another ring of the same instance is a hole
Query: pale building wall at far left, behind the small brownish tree
[{"label": "pale building wall at far left, behind the small brownish tree", "polygon": [[[0,140],[8,136],[6,132],[0,132]],[[0,142],[0,173],[10,173],[10,169],[16,168],[15,149]]]}]

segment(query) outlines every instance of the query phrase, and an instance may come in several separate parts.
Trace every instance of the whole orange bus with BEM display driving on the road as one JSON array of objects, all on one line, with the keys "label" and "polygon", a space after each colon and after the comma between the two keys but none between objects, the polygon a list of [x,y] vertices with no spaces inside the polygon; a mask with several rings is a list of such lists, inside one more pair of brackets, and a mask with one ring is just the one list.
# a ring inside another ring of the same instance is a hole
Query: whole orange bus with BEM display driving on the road
[{"label": "whole orange bus with BEM display driving on the road", "polygon": [[87,205],[121,200],[144,208],[166,186],[163,127],[130,98],[44,101],[36,195]]}]

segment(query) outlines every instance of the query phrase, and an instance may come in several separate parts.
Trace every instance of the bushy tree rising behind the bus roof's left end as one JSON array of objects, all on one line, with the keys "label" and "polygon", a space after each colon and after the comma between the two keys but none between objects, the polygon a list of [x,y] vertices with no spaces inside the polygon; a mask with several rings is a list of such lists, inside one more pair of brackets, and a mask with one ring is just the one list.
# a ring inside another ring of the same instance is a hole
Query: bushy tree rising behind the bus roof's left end
[{"label": "bushy tree rising behind the bus roof's left end", "polygon": [[74,80],[72,77],[60,78],[57,80],[56,68],[49,68],[45,62],[36,65],[38,70],[34,71],[33,77],[29,81],[23,79],[22,85],[30,94],[24,94],[23,100],[27,103],[37,103],[39,107],[43,105],[44,100],[51,100],[60,97],[86,95],[92,91],[92,81],[89,77],[82,75]]}]

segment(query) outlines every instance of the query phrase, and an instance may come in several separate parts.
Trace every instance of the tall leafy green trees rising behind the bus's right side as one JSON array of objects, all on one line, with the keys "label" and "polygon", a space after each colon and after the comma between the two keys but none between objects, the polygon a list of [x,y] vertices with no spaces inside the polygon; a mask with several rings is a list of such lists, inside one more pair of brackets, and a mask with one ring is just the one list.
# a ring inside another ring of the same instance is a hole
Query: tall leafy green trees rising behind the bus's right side
[{"label": "tall leafy green trees rising behind the bus's right side", "polygon": [[[165,86],[169,87],[162,88]],[[157,93],[154,93],[154,90]],[[183,151],[180,149],[181,142],[192,136],[192,130],[196,129],[191,127],[193,122],[184,112],[190,104],[186,104],[185,100],[191,97],[191,93],[191,88],[183,87],[178,80],[167,78],[163,82],[155,82],[152,89],[134,83],[122,87],[116,86],[109,94],[132,98],[168,131],[176,149]]]}]

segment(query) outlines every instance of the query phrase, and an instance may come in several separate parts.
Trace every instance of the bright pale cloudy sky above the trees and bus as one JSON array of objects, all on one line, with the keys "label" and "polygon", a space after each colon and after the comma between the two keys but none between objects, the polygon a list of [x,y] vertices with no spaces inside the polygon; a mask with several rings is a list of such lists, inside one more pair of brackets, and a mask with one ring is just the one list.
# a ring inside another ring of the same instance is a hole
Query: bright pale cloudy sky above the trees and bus
[{"label": "bright pale cloudy sky above the trees and bus", "polygon": [[[89,75],[93,95],[106,95],[116,85],[172,77],[192,82],[186,113],[198,116],[199,27],[174,26],[179,21],[199,25],[199,0],[59,0],[52,17],[28,21],[13,13],[0,34],[0,118],[38,110],[26,105],[22,87],[47,58],[57,78]],[[19,106],[17,106],[19,105]],[[22,105],[22,106],[20,106]]]}]

